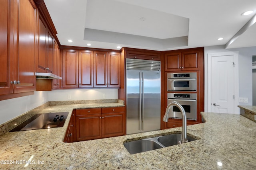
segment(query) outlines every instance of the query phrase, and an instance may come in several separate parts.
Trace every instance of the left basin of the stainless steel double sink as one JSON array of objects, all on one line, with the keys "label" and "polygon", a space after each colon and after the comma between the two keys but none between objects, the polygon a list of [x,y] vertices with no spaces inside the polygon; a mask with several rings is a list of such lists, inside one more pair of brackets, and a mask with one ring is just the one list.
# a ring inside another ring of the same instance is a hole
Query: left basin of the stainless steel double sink
[{"label": "left basin of the stainless steel double sink", "polygon": [[130,142],[124,143],[124,147],[128,150],[130,154],[163,148],[161,145],[159,145],[155,141],[151,141],[148,139],[141,139],[138,141],[130,141]]}]

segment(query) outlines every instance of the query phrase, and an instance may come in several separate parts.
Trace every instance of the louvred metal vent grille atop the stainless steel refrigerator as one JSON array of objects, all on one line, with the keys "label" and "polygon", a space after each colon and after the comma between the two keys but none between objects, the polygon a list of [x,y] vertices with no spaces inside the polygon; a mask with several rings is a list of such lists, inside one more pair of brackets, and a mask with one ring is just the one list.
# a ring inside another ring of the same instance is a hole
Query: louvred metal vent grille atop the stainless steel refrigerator
[{"label": "louvred metal vent grille atop the stainless steel refrigerator", "polygon": [[160,61],[126,59],[126,69],[127,70],[160,71],[160,68],[161,68]]}]

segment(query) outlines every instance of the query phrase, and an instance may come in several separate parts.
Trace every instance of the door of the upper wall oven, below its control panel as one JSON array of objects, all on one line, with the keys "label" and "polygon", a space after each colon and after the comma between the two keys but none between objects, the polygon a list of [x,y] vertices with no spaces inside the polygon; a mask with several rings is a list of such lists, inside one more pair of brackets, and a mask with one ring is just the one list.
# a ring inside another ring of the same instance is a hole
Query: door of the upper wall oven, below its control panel
[{"label": "door of the upper wall oven, below its control panel", "polygon": [[196,92],[196,78],[170,78],[167,80],[167,90]]}]

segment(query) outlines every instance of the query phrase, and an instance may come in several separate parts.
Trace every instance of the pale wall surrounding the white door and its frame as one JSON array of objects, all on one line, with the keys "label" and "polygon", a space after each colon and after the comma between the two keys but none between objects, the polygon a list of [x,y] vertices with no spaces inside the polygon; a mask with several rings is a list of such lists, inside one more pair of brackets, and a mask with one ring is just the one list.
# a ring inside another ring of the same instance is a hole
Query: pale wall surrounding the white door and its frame
[{"label": "pale wall surrounding the white door and its frame", "polygon": [[220,53],[227,51],[239,52],[239,97],[248,98],[248,103],[239,103],[239,105],[252,105],[252,56],[256,55],[256,47],[244,47],[235,49],[225,49],[225,45],[204,47],[204,77],[205,77],[205,97],[204,110],[207,110],[207,55],[209,53]]}]

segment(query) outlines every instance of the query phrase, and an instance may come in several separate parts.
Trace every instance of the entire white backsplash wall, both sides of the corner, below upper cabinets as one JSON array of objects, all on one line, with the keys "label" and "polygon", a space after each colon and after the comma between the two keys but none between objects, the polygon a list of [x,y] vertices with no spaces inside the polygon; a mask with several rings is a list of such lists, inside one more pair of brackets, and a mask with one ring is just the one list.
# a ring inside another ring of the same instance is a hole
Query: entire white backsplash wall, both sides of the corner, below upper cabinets
[{"label": "entire white backsplash wall, both sides of the corner, below upper cabinets", "polygon": [[[103,98],[103,94],[105,98]],[[68,99],[68,95],[71,99]],[[0,125],[48,101],[118,99],[118,89],[39,91],[34,95],[0,101]]]}]

